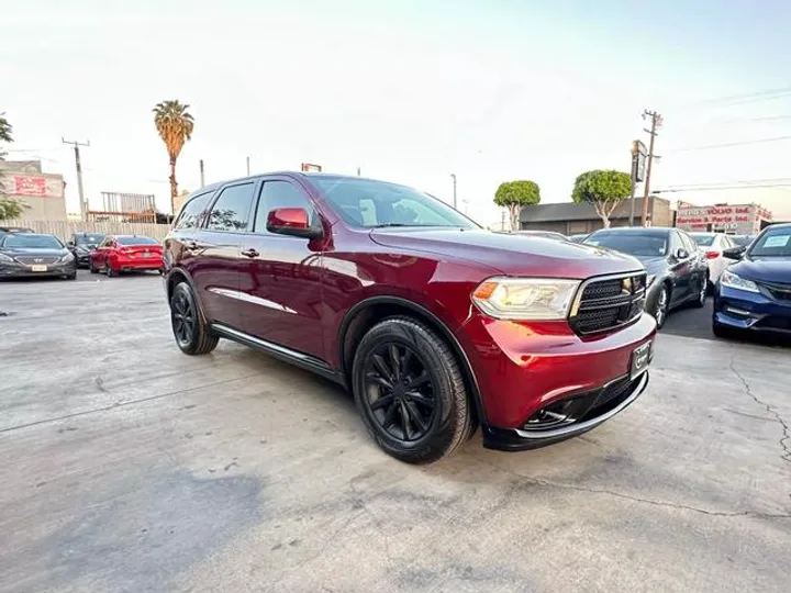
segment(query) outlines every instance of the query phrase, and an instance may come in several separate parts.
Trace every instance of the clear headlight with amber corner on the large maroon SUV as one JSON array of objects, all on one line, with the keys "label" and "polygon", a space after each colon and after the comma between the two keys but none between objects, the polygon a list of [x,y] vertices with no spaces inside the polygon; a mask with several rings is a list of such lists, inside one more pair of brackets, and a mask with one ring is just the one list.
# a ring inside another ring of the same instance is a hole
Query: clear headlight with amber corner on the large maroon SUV
[{"label": "clear headlight with amber corner on the large maroon SUV", "polygon": [[497,320],[559,321],[568,316],[579,280],[489,278],[472,292],[472,302]]}]

